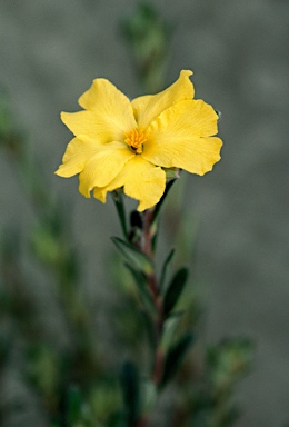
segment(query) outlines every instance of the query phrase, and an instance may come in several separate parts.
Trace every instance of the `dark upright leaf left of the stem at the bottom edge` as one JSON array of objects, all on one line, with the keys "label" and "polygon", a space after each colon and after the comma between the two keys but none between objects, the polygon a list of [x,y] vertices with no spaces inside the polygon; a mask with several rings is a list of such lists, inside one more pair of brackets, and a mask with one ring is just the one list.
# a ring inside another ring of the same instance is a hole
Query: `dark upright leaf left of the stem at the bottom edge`
[{"label": "dark upright leaf left of the stem at the bottom edge", "polygon": [[131,361],[126,361],[122,366],[120,380],[128,426],[134,426],[140,409],[140,383],[137,366]]}]

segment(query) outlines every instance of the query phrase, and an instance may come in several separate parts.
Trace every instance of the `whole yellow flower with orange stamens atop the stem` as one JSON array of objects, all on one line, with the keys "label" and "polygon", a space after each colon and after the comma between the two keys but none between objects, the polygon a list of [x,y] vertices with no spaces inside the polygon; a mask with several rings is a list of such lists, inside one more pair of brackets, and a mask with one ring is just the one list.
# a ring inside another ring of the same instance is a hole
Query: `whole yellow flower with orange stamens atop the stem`
[{"label": "whole yellow flower with orange stamens atop the stem", "polygon": [[62,112],[73,132],[57,175],[79,173],[79,191],[106,202],[107,192],[123,188],[139,200],[138,210],[160,200],[166,187],[163,168],[203,175],[220,160],[221,140],[213,137],[218,115],[193,99],[189,70],[157,95],[130,101],[106,79],[96,79],[79,98],[84,109]]}]

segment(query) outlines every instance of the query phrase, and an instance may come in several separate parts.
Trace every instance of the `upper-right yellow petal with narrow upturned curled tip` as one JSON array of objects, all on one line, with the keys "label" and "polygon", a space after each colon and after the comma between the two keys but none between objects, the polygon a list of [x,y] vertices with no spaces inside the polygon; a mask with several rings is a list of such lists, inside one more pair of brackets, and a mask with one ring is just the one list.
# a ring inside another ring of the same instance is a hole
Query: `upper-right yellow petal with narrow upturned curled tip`
[{"label": "upper-right yellow petal with narrow upturned curled tip", "polygon": [[182,70],[178,80],[157,95],[147,95],[131,101],[139,127],[147,128],[162,111],[182,101],[193,98],[193,86],[189,77],[190,70]]}]

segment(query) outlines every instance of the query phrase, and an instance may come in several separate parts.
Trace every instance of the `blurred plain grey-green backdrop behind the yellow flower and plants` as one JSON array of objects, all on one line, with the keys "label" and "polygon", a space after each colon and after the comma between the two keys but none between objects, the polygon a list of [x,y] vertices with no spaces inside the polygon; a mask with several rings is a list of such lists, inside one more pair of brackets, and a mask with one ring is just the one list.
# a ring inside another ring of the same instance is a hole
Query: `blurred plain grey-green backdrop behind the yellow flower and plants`
[{"label": "blurred plain grey-green backdrop behind the yellow flower and plants", "polygon": [[[118,234],[111,202],[77,192],[53,176],[71,138],[59,111],[77,110],[96,77],[134,97],[139,86],[119,19],[137,1],[0,0],[0,81],[49,190],[72,203],[79,247],[91,276]],[[207,336],[249,335],[255,370],[239,388],[239,427],[289,421],[288,0],[152,1],[176,24],[168,81],[195,70],[197,98],[222,112],[222,161],[189,177],[188,211],[199,220],[198,274],[206,284]],[[27,229],[33,214],[1,153],[1,226]],[[90,225],[89,227],[87,225]],[[101,249],[100,249],[101,248]],[[103,249],[104,248],[104,249]]]}]

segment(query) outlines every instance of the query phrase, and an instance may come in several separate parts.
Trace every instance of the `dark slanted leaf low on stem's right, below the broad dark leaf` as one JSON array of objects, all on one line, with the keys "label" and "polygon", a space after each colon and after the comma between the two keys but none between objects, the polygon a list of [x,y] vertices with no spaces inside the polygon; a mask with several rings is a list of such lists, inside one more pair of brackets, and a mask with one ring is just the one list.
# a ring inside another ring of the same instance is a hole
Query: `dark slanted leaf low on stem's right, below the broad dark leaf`
[{"label": "dark slanted leaf low on stem's right, below the broad dark leaf", "polygon": [[181,365],[186,352],[190,348],[193,341],[193,335],[185,335],[175,346],[172,346],[165,359],[165,368],[160,387],[165,387],[171,377],[177,373]]}]

